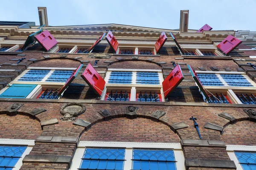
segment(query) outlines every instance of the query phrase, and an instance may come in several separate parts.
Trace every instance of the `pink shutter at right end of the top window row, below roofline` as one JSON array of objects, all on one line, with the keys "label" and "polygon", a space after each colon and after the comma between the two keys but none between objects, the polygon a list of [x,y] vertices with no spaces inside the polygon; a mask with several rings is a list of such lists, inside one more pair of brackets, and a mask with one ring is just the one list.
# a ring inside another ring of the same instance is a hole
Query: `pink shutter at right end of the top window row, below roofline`
[{"label": "pink shutter at right end of the top window row, below roofline", "polygon": [[217,48],[223,51],[225,54],[229,54],[233,49],[235,49],[242,41],[228,35],[221,43],[217,45]]}]

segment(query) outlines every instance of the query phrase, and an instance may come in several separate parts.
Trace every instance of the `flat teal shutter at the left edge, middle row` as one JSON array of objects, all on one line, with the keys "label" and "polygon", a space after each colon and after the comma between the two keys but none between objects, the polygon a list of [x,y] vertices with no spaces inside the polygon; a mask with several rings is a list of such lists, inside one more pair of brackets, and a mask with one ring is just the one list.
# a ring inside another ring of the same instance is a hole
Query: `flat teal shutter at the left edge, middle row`
[{"label": "flat teal shutter at the left edge, middle row", "polygon": [[37,85],[13,84],[0,94],[0,98],[25,99],[36,86]]}]

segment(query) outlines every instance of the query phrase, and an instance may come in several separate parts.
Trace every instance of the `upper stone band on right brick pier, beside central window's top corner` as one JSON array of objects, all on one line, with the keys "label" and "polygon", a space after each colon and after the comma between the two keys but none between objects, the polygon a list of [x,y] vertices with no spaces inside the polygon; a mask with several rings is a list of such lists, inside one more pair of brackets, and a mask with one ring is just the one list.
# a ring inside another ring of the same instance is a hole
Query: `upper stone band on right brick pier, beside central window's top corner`
[{"label": "upper stone band on right brick pier, beside central window's top corner", "polygon": [[182,139],[180,141],[182,147],[194,146],[194,147],[227,147],[223,141],[208,141],[208,140],[193,140]]}]

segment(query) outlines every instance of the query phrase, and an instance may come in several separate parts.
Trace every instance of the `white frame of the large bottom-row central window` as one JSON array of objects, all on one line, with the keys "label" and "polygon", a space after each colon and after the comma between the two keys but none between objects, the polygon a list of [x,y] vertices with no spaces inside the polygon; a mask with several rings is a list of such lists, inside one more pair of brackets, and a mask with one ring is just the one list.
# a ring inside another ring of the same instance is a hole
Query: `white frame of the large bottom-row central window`
[{"label": "white frame of the large bottom-row central window", "polygon": [[180,143],[144,143],[144,142],[94,142],[94,141],[80,141],[73,157],[72,164],[69,170],[77,170],[81,164],[81,158],[84,155],[86,147],[97,148],[125,148],[125,162],[124,170],[131,170],[132,168],[132,151],[133,149],[166,149],[174,150],[175,164],[177,170],[185,170],[185,158]]}]

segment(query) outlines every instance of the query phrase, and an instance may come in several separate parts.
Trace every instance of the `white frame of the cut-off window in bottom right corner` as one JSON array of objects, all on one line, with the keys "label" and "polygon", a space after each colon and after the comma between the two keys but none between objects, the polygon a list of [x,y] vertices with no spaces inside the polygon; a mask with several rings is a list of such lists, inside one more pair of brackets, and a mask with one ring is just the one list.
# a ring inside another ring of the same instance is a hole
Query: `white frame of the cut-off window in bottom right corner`
[{"label": "white frame of the cut-off window in bottom right corner", "polygon": [[236,164],[236,170],[243,170],[241,164],[239,164],[238,159],[236,158],[236,151],[239,152],[256,152],[256,146],[247,146],[247,145],[227,145],[227,154],[232,161]]}]

